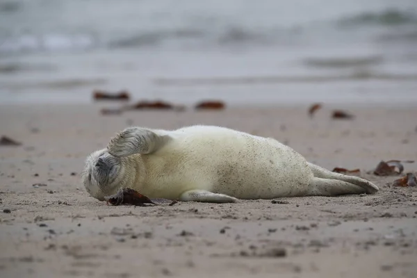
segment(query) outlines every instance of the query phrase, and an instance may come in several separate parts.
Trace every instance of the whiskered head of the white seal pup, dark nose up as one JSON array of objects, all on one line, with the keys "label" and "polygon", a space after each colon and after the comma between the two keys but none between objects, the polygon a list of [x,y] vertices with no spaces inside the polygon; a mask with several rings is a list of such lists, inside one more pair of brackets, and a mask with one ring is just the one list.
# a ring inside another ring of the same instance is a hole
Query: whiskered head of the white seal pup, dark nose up
[{"label": "whiskered head of the white seal pup, dark nose up", "polygon": [[113,195],[120,188],[130,186],[135,175],[129,158],[112,156],[107,149],[101,149],[88,156],[81,179],[85,190],[92,197],[104,201],[104,196]]}]

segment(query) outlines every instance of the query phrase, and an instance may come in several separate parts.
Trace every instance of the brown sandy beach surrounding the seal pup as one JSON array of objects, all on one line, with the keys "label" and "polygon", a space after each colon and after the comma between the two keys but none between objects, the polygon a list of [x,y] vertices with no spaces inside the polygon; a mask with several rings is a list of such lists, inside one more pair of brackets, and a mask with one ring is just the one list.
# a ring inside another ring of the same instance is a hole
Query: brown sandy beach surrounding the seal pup
[{"label": "brown sandy beach surrounding the seal pup", "polygon": [[[100,106],[1,106],[0,277],[417,277],[417,188],[366,174],[417,158],[417,108],[325,107],[134,111]],[[85,157],[127,125],[218,124],[286,142],[327,169],[361,168],[376,195],[237,204],[106,206],[89,197]],[[405,165],[416,172],[417,164]],[[34,187],[34,183],[47,186]]]}]

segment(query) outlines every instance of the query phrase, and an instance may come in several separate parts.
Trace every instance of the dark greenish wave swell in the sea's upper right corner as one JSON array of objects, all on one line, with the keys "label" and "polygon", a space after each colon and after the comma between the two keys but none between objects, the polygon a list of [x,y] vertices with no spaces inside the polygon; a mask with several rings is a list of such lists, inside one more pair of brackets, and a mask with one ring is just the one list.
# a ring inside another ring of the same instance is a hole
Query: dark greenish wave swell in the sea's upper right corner
[{"label": "dark greenish wave swell in the sea's upper right corner", "polygon": [[417,14],[408,10],[386,9],[379,13],[366,12],[343,17],[338,20],[338,23],[342,26],[417,24]]}]

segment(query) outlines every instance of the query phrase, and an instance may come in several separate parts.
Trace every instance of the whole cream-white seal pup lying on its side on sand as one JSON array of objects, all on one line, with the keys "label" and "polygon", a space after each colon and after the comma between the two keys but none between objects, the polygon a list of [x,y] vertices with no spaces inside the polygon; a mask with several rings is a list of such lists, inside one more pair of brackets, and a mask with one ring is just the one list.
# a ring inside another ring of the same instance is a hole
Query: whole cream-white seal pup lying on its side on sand
[{"label": "whole cream-white seal pup lying on its side on sand", "polygon": [[88,157],[83,183],[101,200],[125,187],[148,197],[202,202],[378,190],[365,179],[308,163],[273,138],[220,126],[125,129]]}]

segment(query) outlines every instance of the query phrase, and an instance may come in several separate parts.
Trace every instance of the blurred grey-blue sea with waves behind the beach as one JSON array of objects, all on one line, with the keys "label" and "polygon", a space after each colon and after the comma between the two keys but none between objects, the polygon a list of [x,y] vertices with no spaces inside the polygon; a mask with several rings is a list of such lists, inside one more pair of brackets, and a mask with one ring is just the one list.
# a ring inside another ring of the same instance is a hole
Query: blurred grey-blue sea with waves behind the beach
[{"label": "blurred grey-blue sea with waves behind the beach", "polygon": [[416,0],[0,0],[0,102],[417,104]]}]

